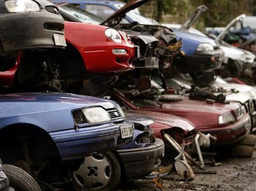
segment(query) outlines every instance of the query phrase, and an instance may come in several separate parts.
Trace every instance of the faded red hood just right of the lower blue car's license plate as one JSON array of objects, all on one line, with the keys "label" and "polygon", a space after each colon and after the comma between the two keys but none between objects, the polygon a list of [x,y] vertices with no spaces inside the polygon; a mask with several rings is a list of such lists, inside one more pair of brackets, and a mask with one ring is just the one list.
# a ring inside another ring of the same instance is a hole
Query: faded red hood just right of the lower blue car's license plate
[{"label": "faded red hood just right of the lower blue car's license plate", "polygon": [[170,127],[180,127],[184,132],[190,132],[194,130],[194,125],[179,116],[174,116],[166,113],[159,113],[154,111],[142,111],[142,110],[128,110],[126,113],[136,113],[140,115],[149,116],[157,123],[162,123],[164,125],[170,126]]}]

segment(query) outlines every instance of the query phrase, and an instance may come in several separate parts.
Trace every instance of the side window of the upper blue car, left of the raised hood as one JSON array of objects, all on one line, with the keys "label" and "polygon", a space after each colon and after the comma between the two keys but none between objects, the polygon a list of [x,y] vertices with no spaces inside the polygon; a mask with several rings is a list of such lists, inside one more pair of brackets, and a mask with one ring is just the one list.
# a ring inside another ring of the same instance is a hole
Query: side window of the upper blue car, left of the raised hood
[{"label": "side window of the upper blue car, left of the raised hood", "polygon": [[86,4],[86,11],[89,11],[92,14],[100,16],[103,19],[107,19],[115,11],[107,6],[101,4]]}]

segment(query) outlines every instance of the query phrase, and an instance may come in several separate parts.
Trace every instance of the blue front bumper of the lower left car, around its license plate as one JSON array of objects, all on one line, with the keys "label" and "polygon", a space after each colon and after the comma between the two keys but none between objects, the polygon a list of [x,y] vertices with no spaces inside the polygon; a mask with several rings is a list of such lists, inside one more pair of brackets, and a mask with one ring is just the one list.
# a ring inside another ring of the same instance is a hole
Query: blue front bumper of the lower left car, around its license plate
[{"label": "blue front bumper of the lower left car, around its license plate", "polygon": [[133,123],[108,123],[99,126],[89,126],[77,130],[52,132],[50,136],[56,143],[62,160],[72,160],[86,157],[92,152],[113,150],[129,143],[133,137],[121,138],[120,126]]}]

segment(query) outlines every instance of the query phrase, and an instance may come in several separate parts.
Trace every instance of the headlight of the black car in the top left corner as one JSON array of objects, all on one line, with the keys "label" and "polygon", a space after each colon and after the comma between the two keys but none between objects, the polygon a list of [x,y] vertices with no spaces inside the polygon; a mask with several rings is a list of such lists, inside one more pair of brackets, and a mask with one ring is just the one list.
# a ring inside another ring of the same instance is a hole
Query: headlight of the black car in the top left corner
[{"label": "headlight of the black car in the top left corner", "polygon": [[32,0],[8,0],[4,5],[9,13],[40,11],[39,5]]}]

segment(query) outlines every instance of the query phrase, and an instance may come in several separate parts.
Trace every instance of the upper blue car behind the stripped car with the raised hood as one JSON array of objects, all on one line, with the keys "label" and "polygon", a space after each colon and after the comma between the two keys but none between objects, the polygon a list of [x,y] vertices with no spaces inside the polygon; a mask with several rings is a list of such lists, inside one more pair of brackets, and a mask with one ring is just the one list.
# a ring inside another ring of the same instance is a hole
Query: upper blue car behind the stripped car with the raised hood
[{"label": "upper blue car behind the stripped car with the raised hood", "polygon": [[[145,18],[138,11],[138,6],[149,0],[131,1],[127,6],[119,1],[96,1],[96,0],[53,0],[55,3],[67,2],[80,6],[92,14],[106,19],[103,23],[109,27],[118,29],[131,28],[136,30],[134,23],[138,25],[157,26],[160,23]],[[117,12],[116,12],[117,11]],[[125,15],[124,19],[123,15]],[[118,22],[119,21],[119,22]],[[182,61],[179,69],[182,73],[212,71],[220,68],[224,59],[224,53],[218,43],[208,37],[198,36],[182,30],[174,30],[177,39],[182,39],[181,51],[185,53],[185,61]]]}]

